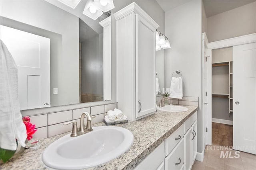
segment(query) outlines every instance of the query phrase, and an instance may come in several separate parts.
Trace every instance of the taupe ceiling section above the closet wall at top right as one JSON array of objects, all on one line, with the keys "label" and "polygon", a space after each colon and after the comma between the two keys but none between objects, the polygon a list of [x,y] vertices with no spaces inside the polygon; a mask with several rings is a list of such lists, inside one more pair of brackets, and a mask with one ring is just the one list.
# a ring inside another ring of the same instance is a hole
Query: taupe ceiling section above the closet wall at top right
[{"label": "taupe ceiling section above the closet wall at top right", "polygon": [[256,0],[203,0],[206,17],[244,6]]}]

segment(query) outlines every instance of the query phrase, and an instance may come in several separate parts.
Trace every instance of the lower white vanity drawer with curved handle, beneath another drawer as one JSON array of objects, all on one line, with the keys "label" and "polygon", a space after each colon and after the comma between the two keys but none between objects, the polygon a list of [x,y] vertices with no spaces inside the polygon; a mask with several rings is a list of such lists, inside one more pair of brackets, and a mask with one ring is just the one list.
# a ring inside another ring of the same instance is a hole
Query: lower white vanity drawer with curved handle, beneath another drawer
[{"label": "lower white vanity drawer with curved handle, beneath another drawer", "polygon": [[184,164],[184,139],[165,158],[165,170],[180,170]]}]

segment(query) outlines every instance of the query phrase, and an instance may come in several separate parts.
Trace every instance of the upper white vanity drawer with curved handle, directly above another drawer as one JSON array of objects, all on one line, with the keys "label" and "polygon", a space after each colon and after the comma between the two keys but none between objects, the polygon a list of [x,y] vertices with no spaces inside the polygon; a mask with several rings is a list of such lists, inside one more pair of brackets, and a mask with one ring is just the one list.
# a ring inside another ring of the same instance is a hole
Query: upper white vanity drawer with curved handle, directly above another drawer
[{"label": "upper white vanity drawer with curved handle, directly above another drawer", "polygon": [[184,124],[182,124],[170,137],[165,140],[165,155],[167,156],[172,149],[181,141],[184,135]]}]

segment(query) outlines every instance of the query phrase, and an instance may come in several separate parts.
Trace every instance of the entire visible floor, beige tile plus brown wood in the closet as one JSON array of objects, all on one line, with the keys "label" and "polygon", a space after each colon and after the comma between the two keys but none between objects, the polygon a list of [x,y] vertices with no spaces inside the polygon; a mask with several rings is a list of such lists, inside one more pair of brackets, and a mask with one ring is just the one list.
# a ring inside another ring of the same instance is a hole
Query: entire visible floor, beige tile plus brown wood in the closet
[{"label": "entire visible floor, beige tile plus brown wood in the closet", "polygon": [[232,138],[232,126],[212,123],[213,145],[206,146],[203,162],[195,160],[192,170],[256,170],[256,155],[223,147],[232,146]]}]

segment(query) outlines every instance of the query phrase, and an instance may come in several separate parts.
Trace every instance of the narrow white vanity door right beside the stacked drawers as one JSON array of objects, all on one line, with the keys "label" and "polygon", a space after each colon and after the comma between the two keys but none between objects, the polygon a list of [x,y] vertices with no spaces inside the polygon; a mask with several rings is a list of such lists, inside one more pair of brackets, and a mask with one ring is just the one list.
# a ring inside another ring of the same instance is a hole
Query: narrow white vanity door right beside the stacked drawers
[{"label": "narrow white vanity door right beside the stacked drawers", "polygon": [[185,170],[192,168],[192,127],[184,135],[184,157],[185,157]]}]

